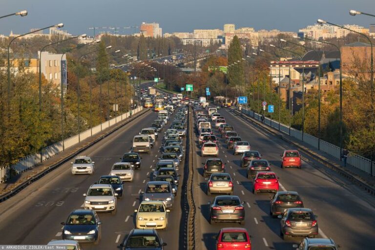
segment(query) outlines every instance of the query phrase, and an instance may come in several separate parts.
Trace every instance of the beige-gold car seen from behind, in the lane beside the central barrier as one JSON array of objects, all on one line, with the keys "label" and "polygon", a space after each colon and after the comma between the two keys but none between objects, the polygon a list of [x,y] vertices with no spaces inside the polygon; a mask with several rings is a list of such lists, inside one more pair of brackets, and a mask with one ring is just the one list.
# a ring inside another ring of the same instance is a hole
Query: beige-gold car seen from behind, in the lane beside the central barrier
[{"label": "beige-gold car seen from behind, in the lane beside the central barrier", "polygon": [[214,173],[207,181],[207,195],[226,193],[233,195],[233,179],[229,173]]}]

